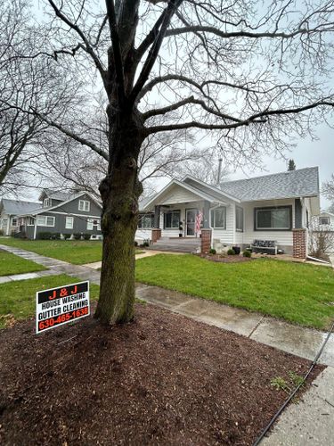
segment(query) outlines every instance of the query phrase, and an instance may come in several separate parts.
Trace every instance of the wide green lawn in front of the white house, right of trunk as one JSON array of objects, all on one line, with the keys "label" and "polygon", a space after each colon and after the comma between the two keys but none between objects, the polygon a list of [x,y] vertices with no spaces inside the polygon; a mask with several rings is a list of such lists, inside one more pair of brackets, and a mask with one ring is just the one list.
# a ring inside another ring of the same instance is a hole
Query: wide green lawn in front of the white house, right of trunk
[{"label": "wide green lawn in front of the white house, right of trunk", "polygon": [[136,262],[136,280],[326,329],[334,318],[334,271],[282,260],[215,263],[159,254]]}]

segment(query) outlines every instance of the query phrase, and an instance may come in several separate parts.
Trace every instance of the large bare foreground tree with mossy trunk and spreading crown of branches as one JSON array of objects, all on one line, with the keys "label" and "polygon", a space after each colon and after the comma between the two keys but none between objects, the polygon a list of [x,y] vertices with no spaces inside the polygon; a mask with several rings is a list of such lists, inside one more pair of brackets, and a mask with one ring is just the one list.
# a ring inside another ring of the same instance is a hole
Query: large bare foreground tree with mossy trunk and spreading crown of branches
[{"label": "large bare foreground tree with mossy trunk and spreading crown of branches", "polygon": [[[134,314],[133,244],[145,140],[191,128],[210,132],[228,165],[282,152],[291,136],[312,133],[330,119],[334,103],[327,87],[334,2],[44,4],[39,55],[75,73],[87,96],[61,116],[33,112],[108,162],[100,184],[103,251],[95,317],[126,322]],[[107,151],[82,133],[91,98],[101,91]]]}]

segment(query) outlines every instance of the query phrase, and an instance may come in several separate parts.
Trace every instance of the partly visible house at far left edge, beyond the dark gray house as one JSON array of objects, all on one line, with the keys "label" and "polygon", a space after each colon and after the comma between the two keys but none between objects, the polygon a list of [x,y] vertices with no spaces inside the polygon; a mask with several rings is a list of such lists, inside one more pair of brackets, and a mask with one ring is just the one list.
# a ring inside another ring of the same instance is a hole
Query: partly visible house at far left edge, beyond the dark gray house
[{"label": "partly visible house at far left edge, beyond the dark gray house", "polygon": [[20,231],[20,225],[24,219],[19,216],[33,211],[38,206],[40,206],[39,202],[22,202],[3,198],[0,202],[0,230],[4,235],[12,235]]}]

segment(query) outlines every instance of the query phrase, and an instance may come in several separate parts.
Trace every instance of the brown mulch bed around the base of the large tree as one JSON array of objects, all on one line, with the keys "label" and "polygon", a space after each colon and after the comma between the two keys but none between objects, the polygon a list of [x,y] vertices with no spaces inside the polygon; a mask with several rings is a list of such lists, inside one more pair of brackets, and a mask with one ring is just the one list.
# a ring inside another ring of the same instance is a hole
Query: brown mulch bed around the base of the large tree
[{"label": "brown mulch bed around the base of the large tree", "polygon": [[271,379],[310,364],[141,304],[126,326],[86,318],[35,335],[33,319],[18,323],[0,332],[0,359],[11,446],[250,445],[286,398]]}]

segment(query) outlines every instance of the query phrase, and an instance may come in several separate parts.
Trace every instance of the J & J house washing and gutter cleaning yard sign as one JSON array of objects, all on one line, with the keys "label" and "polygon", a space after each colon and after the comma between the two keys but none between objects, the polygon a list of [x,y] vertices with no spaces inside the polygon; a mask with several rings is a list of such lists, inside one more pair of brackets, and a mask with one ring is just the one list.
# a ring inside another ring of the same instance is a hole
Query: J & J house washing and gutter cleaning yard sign
[{"label": "J & J house washing and gutter cleaning yard sign", "polygon": [[89,282],[36,293],[36,333],[62,326],[90,314]]}]

